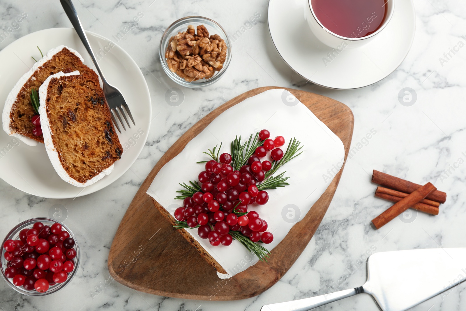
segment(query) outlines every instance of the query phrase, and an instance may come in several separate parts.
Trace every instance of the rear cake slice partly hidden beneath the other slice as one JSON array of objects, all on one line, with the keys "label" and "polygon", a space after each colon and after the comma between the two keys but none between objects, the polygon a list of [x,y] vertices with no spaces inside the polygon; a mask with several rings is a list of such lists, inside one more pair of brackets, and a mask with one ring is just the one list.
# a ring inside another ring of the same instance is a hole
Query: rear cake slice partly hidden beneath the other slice
[{"label": "rear cake slice partly hidden beneath the other slice", "polygon": [[8,135],[20,134],[43,143],[42,135],[36,136],[33,133],[36,125],[31,119],[37,112],[31,103],[31,91],[38,90],[48,76],[58,72],[93,71],[82,62],[83,59],[78,52],[64,45],[49,50],[21,77],[8,94],[2,114],[3,130]]}]

